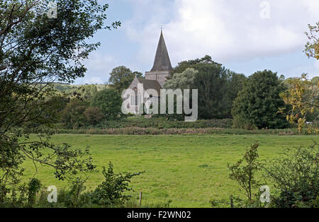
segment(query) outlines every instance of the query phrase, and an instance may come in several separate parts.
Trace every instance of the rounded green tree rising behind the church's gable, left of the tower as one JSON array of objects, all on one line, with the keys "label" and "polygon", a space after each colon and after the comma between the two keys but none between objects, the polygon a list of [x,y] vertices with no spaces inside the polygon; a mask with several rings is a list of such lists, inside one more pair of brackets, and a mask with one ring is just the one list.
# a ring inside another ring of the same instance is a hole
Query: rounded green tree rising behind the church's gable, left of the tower
[{"label": "rounded green tree rising behind the church's gable, left of the tower", "polygon": [[136,77],[142,78],[142,74],[138,71],[132,72],[125,66],[118,66],[111,71],[108,83],[113,86],[116,90],[122,93],[123,90],[127,89]]}]

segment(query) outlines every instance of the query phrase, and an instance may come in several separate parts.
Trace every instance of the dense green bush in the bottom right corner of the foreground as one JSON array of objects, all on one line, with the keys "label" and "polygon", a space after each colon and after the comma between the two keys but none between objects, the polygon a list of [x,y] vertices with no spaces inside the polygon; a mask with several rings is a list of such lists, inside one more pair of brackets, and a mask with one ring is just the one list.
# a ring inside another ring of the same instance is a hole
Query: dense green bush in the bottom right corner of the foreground
[{"label": "dense green bush in the bottom right corner of the foreground", "polygon": [[[319,195],[319,145],[286,148],[264,168],[279,194],[272,197],[275,207],[314,207]],[[317,202],[317,207],[318,202]]]}]

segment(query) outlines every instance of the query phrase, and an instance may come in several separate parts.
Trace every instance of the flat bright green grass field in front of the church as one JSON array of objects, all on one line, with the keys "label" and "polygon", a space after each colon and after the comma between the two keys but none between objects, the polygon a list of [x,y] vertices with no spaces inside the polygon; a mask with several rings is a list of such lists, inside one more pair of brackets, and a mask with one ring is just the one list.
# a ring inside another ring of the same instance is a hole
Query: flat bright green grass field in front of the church
[{"label": "flat bright green grass field in front of the church", "polygon": [[[31,136],[31,139],[35,139]],[[116,172],[145,173],[135,177],[131,186],[134,197],[142,192],[144,204],[172,200],[171,206],[209,207],[211,199],[228,198],[240,194],[236,182],[228,179],[227,163],[235,163],[245,149],[258,142],[260,159],[274,158],[291,146],[319,142],[318,136],[52,136],[57,144],[67,142],[74,147],[91,146],[91,154],[99,173],[91,173],[86,187],[96,187],[102,180],[101,166],[112,161]],[[27,162],[26,177],[35,173],[33,163]],[[39,167],[35,175],[43,185],[67,186],[57,181],[52,170]]]}]

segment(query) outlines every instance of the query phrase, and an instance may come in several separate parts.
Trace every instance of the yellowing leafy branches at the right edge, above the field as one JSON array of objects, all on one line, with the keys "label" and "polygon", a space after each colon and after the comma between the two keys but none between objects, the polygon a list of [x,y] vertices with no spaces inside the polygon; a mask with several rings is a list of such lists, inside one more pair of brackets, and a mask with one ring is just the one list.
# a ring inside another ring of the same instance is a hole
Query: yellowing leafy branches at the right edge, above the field
[{"label": "yellowing leafy branches at the right edge, above the field", "polygon": [[[303,74],[301,78],[290,78],[287,83],[288,89],[280,96],[287,105],[291,106],[291,110],[287,111],[285,108],[281,108],[280,112],[286,113],[286,119],[290,123],[297,122],[300,132],[306,128],[308,133],[318,134],[318,81],[308,81],[307,75]],[[307,118],[311,124],[306,125]]]}]

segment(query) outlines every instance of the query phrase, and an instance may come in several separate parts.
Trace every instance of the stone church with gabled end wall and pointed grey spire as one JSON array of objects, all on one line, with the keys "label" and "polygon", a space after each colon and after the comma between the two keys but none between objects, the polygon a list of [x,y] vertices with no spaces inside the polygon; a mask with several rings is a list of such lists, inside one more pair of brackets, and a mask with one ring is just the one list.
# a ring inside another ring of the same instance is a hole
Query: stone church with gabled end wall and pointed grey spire
[{"label": "stone church with gabled end wall and pointed grey spire", "polygon": [[[164,83],[167,81],[167,77],[170,76],[169,72],[172,71],[172,69],[164,35],[161,30],[152,69],[145,72],[145,78],[137,78],[135,76],[134,80],[128,87],[128,89],[135,92],[135,97],[131,96],[130,98],[130,106],[127,107],[128,112],[138,114],[138,109],[140,108],[141,103],[158,103],[160,99],[160,90],[164,87]],[[143,95],[138,93],[138,85],[141,83],[144,91],[156,90],[158,96],[150,95],[150,101],[145,101]]]}]

